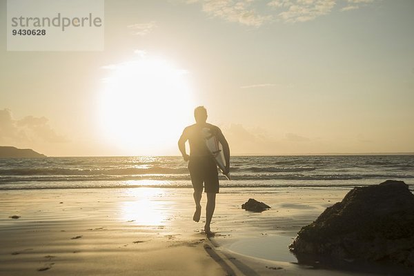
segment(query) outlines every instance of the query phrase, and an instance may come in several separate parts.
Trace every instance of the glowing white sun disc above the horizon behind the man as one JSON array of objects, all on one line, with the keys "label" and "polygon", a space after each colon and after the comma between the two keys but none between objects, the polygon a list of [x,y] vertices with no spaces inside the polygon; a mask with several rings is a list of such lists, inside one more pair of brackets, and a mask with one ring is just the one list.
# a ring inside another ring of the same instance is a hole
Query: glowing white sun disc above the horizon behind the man
[{"label": "glowing white sun disc above the horizon behind the man", "polygon": [[131,155],[176,148],[194,108],[188,72],[147,56],[104,68],[109,75],[98,95],[98,120],[110,144]]}]

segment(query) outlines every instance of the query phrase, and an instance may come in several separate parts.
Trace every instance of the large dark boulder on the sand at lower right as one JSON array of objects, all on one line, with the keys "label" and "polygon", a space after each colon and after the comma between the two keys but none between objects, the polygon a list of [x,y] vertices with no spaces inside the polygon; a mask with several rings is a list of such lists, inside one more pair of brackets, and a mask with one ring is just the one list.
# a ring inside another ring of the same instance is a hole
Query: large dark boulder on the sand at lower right
[{"label": "large dark boulder on the sand at lower right", "polygon": [[353,188],[289,248],[299,262],[315,256],[414,267],[414,195],[404,181]]}]

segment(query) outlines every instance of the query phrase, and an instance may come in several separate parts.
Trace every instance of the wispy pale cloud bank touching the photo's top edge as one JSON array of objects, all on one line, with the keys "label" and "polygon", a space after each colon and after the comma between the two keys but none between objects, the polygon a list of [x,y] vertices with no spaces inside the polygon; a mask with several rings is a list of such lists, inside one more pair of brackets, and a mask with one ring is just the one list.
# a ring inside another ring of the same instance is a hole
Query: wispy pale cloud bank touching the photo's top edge
[{"label": "wispy pale cloud bank touching the photo's top edge", "polygon": [[[181,0],[181,3],[201,3],[202,10],[212,17],[246,26],[262,26],[272,21],[305,22],[333,11],[337,3],[345,3],[340,10],[356,10],[374,0]],[[270,10],[258,9],[263,3]],[[341,5],[339,5],[341,6]],[[257,8],[256,8],[257,7]]]}]

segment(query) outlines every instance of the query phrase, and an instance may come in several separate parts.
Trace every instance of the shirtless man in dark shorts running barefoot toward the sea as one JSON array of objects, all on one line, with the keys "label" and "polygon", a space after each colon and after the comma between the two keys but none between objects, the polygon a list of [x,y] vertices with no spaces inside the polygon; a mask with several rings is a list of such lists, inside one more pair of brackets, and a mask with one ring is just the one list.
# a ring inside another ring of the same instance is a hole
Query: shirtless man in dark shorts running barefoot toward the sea
[{"label": "shirtless man in dark shorts running barefoot toward the sea", "polygon": [[[193,220],[196,222],[200,220],[200,201],[204,184],[204,192],[207,193],[206,225],[204,226],[204,231],[206,235],[213,235],[210,230],[210,223],[215,209],[216,194],[219,193],[219,176],[215,159],[206,146],[204,133],[207,131],[211,135],[215,135],[223,146],[224,157],[226,159],[226,173],[230,170],[230,149],[221,130],[217,126],[206,123],[207,110],[204,106],[195,108],[194,117],[196,123],[184,128],[183,134],[178,141],[178,147],[184,160],[190,160],[188,162],[188,170],[190,170],[195,201]],[[190,155],[186,153],[187,140],[190,144]]]}]

